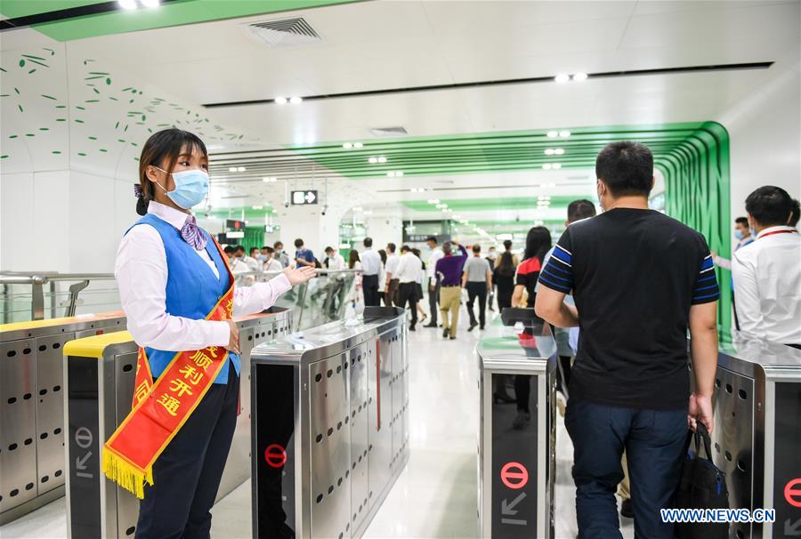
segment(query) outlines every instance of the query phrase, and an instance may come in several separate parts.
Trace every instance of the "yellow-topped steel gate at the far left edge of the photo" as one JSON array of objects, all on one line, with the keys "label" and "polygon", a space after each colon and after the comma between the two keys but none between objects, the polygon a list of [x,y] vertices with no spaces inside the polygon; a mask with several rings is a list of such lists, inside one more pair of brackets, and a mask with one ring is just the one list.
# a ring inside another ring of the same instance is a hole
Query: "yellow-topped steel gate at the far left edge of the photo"
[{"label": "yellow-topped steel gate at the far left edge of the photo", "polygon": [[0,326],[0,524],[64,495],[64,343],[123,329],[122,312]]}]

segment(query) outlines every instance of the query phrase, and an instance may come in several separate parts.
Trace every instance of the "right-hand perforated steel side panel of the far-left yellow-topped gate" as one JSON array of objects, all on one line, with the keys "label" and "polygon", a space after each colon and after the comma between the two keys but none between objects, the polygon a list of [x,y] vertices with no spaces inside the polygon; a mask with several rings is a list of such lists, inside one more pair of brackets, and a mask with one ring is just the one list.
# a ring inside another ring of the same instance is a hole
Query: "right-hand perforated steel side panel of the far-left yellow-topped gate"
[{"label": "right-hand perforated steel side panel of the far-left yellow-topped gate", "polygon": [[61,347],[74,334],[36,338],[36,475],[38,493],[64,484],[64,366]]}]

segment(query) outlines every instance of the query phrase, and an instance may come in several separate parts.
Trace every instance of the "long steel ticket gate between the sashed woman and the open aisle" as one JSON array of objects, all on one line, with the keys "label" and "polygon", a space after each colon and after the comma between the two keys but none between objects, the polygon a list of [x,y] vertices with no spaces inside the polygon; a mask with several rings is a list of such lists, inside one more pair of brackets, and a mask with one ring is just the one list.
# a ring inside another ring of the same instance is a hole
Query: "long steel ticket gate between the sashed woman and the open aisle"
[{"label": "long steel ticket gate between the sashed woman and the open aisle", "polygon": [[253,536],[360,537],[409,460],[404,310],[257,347]]}]

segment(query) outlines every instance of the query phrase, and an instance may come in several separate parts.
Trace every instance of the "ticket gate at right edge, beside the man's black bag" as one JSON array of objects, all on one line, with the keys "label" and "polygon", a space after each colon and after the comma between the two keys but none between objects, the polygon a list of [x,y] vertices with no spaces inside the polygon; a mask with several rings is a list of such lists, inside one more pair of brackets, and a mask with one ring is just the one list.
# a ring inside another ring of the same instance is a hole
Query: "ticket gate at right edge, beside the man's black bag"
[{"label": "ticket gate at right edge, beside the man's black bag", "polygon": [[773,523],[732,523],[730,537],[801,537],[801,350],[721,334],[712,404],[730,507],[776,511]]}]

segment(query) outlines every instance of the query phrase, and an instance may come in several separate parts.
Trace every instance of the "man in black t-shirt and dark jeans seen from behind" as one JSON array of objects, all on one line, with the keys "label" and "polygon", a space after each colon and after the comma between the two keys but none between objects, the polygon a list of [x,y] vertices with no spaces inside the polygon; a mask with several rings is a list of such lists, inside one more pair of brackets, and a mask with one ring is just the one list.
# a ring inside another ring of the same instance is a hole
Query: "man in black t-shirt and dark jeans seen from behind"
[{"label": "man in black t-shirt and dark jeans seen from behind", "polygon": [[[565,230],[540,272],[535,304],[554,326],[581,328],[565,416],[578,534],[620,536],[614,493],[625,449],[635,536],[672,539],[659,509],[673,501],[687,423],[713,428],[715,269],[704,237],[648,209],[650,149],[611,143],[595,173],[604,213]],[[575,307],[563,302],[571,291]]]}]

